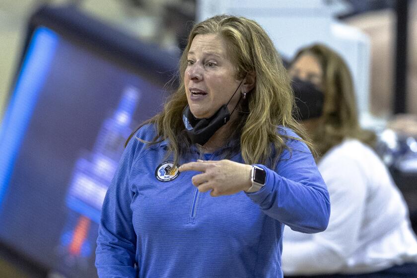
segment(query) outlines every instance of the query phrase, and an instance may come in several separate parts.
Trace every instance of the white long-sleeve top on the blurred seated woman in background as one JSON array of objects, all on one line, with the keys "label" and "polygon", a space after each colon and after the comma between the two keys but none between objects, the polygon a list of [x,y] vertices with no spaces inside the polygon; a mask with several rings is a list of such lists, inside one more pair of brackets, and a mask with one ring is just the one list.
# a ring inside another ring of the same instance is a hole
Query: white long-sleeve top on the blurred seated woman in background
[{"label": "white long-sleeve top on the blurred seated woman in background", "polygon": [[330,194],[329,226],[317,234],[285,227],[284,275],[369,273],[417,262],[407,205],[371,148],[347,139],[318,167]]}]

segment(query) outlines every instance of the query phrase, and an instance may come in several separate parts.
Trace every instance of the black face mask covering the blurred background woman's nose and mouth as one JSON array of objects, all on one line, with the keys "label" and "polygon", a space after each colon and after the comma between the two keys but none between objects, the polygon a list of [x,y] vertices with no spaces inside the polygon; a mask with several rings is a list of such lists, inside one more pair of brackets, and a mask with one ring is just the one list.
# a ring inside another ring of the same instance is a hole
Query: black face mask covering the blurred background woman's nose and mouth
[{"label": "black face mask covering the blurred background woman's nose and mouth", "polygon": [[318,118],[323,113],[324,93],[308,81],[294,78],[291,82],[296,109],[293,115],[303,121]]}]

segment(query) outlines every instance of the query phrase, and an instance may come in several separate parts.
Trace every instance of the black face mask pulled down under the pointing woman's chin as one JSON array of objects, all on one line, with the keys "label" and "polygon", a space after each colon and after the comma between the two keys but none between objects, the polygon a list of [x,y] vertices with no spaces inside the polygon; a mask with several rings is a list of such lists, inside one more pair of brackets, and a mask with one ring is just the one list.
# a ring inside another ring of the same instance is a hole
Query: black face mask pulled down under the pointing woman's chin
[{"label": "black face mask pulled down under the pointing woman's chin", "polygon": [[236,88],[235,92],[233,93],[229,101],[226,104],[223,104],[217,110],[217,112],[214,113],[214,115],[211,116],[209,119],[207,118],[197,119],[196,117],[194,117],[193,113],[191,113],[189,105],[187,105],[184,108],[183,122],[185,126],[185,131],[193,144],[197,143],[200,145],[204,145],[205,143],[207,143],[207,141],[211,138],[211,136],[213,136],[213,134],[219,128],[221,128],[230,120],[230,116],[232,115],[237,105],[239,104],[240,98],[236,106],[233,108],[232,113],[229,113],[229,110],[227,109],[227,105],[229,104],[233,96],[236,94],[237,90],[242,84],[242,81],[240,82],[239,86]]}]

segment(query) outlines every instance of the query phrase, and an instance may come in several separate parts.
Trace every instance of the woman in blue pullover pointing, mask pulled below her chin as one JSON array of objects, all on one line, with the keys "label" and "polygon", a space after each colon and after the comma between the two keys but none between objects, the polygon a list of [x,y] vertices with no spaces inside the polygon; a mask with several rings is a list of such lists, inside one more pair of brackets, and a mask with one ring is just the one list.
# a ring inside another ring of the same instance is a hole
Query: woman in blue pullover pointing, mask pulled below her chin
[{"label": "woman in blue pullover pointing, mask pulled below her chin", "polygon": [[281,278],[284,224],[322,231],[330,204],[271,39],[211,17],[191,30],[179,78],[108,189],[99,277]]}]

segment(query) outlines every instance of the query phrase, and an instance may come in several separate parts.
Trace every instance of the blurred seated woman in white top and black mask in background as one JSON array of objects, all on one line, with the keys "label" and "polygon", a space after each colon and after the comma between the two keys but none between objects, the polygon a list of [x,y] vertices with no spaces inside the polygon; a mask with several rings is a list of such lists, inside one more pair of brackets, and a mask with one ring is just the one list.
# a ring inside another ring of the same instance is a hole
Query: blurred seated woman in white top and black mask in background
[{"label": "blurred seated woman in white top and black mask in background", "polygon": [[320,151],[332,204],[326,231],[285,228],[285,277],[416,278],[417,242],[407,205],[360,128],[343,59],[328,47],[298,51],[289,67],[299,118]]}]

